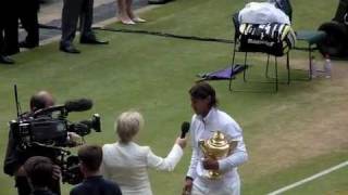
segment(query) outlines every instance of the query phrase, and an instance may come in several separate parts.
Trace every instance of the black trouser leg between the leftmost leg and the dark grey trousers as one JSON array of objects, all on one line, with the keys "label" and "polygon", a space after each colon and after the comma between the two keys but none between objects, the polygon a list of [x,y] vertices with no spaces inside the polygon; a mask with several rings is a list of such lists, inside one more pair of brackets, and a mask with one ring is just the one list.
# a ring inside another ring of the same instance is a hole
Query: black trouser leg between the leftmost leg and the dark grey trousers
[{"label": "black trouser leg between the leftmost leg and the dark grey trousers", "polygon": [[38,0],[21,0],[18,17],[23,28],[27,32],[25,41],[30,46],[39,44],[39,24],[37,17],[38,10]]}]

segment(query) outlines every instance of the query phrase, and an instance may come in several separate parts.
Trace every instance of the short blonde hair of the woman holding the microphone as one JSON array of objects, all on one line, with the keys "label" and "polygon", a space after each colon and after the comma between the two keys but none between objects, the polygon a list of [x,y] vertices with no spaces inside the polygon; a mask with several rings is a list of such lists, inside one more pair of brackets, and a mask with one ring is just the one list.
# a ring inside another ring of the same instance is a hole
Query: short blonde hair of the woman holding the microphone
[{"label": "short blonde hair of the woman holding the microphone", "polygon": [[128,110],[122,113],[114,125],[120,142],[128,143],[144,126],[144,118],[140,113]]}]

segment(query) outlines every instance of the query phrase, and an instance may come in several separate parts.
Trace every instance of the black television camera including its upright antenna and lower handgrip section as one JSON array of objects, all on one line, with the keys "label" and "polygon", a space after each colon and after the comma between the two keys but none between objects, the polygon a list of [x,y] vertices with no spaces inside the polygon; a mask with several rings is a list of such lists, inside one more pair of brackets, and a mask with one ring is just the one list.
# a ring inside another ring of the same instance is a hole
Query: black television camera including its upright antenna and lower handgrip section
[{"label": "black television camera including its upright antenna and lower handgrip section", "polygon": [[[74,147],[78,144],[71,139],[71,134],[76,133],[83,138],[95,130],[101,131],[99,114],[94,114],[91,119],[72,122],[67,120],[69,113],[84,112],[92,107],[92,102],[88,99],[66,101],[63,105],[50,106],[32,113],[21,114],[15,90],[15,103],[17,108],[17,119],[11,120],[10,131],[17,143],[16,150],[25,153],[32,148],[47,148],[54,154],[54,164],[61,167],[62,181],[70,184],[82,182],[83,174],[78,168],[78,157],[65,147]],[[76,135],[75,135],[76,136]]]}]

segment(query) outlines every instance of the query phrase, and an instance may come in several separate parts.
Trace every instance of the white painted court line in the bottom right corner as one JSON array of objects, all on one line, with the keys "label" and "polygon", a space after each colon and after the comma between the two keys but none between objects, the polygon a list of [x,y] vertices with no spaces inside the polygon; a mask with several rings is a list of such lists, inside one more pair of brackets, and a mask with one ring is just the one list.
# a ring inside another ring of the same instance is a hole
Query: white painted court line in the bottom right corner
[{"label": "white painted court line in the bottom right corner", "polygon": [[316,174],[314,174],[314,176],[312,176],[312,177],[306,178],[306,179],[300,180],[300,181],[298,181],[298,182],[296,182],[296,183],[293,183],[293,184],[290,184],[290,185],[287,185],[287,186],[285,186],[285,187],[282,187],[282,188],[279,188],[279,190],[276,190],[276,191],[274,191],[274,192],[271,192],[271,193],[269,193],[268,195],[277,195],[277,194],[281,194],[281,193],[283,193],[283,192],[285,192],[285,191],[288,191],[288,190],[290,190],[290,188],[294,188],[294,187],[296,187],[296,186],[298,186],[298,185],[301,185],[301,184],[303,184],[303,183],[307,183],[307,182],[310,182],[310,181],[312,181],[312,180],[315,180],[316,178],[320,178],[320,177],[322,177],[322,176],[325,176],[325,174],[327,174],[327,173],[331,173],[331,172],[333,172],[333,171],[335,171],[335,170],[337,170],[337,169],[340,169],[340,168],[343,168],[343,167],[345,167],[345,166],[347,166],[347,165],[348,165],[348,160],[345,161],[345,162],[341,162],[341,164],[339,164],[339,165],[337,165],[337,166],[335,166],[335,167],[332,167],[332,168],[330,168],[330,169],[323,170],[323,171],[321,171],[321,172],[319,172],[319,173],[316,173]]}]

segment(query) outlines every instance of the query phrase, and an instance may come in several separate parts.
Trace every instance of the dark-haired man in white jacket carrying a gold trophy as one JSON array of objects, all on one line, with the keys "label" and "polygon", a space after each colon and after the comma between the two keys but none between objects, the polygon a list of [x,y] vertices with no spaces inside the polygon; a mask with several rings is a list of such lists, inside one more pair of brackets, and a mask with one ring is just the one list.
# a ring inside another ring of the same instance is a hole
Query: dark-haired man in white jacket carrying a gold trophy
[{"label": "dark-haired man in white jacket carrying a gold trophy", "polygon": [[[183,194],[188,195],[239,195],[240,181],[237,167],[248,159],[239,125],[226,113],[216,108],[215,90],[207,82],[199,82],[189,90],[195,115],[191,119],[190,135],[192,156]],[[198,141],[208,140],[215,131],[225,134],[227,141],[238,141],[226,158],[213,160],[204,158]],[[222,178],[212,180],[207,170],[219,170]]]}]

